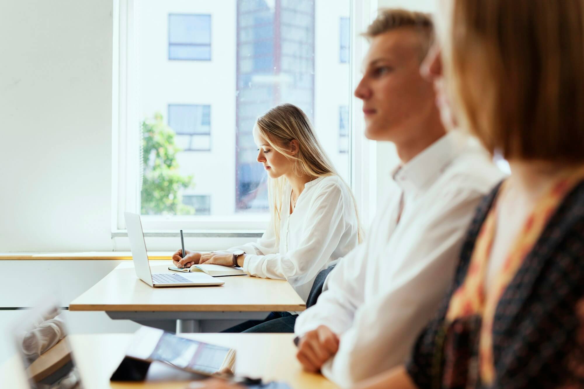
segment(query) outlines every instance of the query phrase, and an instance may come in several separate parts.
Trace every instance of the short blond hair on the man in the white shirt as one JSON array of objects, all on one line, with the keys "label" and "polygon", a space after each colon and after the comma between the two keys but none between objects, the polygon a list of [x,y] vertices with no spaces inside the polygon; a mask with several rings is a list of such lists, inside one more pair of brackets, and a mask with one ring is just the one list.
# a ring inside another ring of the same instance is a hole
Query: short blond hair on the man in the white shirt
[{"label": "short blond hair on the man in the white shirt", "polygon": [[402,8],[382,8],[363,35],[371,40],[391,30],[411,28],[420,36],[420,60],[423,60],[434,41],[434,25],[429,13]]}]

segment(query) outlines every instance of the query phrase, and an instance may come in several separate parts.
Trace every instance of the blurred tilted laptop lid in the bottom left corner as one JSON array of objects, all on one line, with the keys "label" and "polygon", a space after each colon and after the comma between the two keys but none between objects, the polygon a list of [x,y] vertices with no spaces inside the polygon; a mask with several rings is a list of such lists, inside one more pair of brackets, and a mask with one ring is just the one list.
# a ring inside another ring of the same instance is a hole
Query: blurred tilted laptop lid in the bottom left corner
[{"label": "blurred tilted laptop lid in the bottom left corner", "polygon": [[45,300],[24,311],[12,333],[30,388],[84,387],[67,338],[65,319],[55,301]]}]

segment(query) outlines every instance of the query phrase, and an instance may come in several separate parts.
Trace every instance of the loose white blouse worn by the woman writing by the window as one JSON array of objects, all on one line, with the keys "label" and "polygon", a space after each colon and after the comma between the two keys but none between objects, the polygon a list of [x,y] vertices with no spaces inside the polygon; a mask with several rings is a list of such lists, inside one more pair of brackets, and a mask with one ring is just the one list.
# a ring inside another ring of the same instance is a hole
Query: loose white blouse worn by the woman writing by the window
[{"label": "loose white blouse worn by the woman writing by the window", "polygon": [[247,255],[250,276],[285,279],[307,300],[318,272],[357,246],[357,214],[349,188],[338,176],[307,182],[290,214],[290,185],[282,199],[280,239],[270,227],[255,243],[231,248]]}]

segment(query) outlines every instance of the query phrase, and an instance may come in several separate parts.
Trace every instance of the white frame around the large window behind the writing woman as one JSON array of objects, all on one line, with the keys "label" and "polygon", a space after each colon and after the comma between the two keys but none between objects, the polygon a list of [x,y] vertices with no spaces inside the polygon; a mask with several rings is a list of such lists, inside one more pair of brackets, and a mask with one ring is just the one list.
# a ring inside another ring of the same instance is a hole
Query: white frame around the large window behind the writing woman
[{"label": "white frame around the large window behind the writing woman", "polygon": [[[137,90],[137,25],[135,4],[139,0],[114,0],[113,23],[113,107],[112,107],[112,238],[126,239],[124,211],[139,213],[140,204],[140,144],[139,121],[134,95]],[[350,96],[360,81],[360,62],[367,50],[366,41],[353,32],[363,31],[377,13],[377,0],[350,0],[349,77]],[[212,43],[211,43],[212,44]],[[374,142],[367,141],[360,103],[349,100],[349,185],[355,194],[361,223],[367,227],[377,208],[377,158]],[[135,122],[135,123],[134,123]],[[135,131],[128,130],[136,128]],[[364,158],[355,158],[363,155]],[[269,222],[266,214],[235,214],[218,216],[141,216],[147,237],[178,236],[180,229],[188,237],[209,239],[208,242],[227,242],[234,238],[259,237]],[[124,246],[125,240],[121,243]],[[203,244],[203,246],[206,246]]]}]

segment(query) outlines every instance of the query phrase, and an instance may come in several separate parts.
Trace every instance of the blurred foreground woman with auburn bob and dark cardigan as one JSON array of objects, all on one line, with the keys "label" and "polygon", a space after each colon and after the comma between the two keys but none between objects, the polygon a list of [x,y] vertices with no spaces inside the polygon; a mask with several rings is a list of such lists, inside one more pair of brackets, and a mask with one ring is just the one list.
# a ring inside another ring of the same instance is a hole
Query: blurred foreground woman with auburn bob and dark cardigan
[{"label": "blurred foreground woman with auburn bob and dark cardigan", "polygon": [[358,387],[584,387],[584,0],[439,9],[422,71],[443,120],[511,175],[479,206],[408,362]]}]

